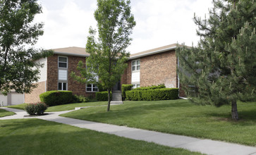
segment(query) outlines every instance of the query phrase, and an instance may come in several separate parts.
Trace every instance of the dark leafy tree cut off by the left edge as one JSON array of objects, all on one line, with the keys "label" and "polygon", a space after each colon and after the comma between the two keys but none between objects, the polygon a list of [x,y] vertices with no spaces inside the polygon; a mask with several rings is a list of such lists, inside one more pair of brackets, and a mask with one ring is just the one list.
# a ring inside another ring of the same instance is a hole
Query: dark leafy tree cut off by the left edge
[{"label": "dark leafy tree cut off by the left edge", "polygon": [[36,0],[0,1],[0,92],[11,89],[18,93],[29,93],[39,79],[42,65],[35,60],[51,54],[35,50],[34,45],[43,35],[42,23],[32,24],[35,15],[42,12]]}]

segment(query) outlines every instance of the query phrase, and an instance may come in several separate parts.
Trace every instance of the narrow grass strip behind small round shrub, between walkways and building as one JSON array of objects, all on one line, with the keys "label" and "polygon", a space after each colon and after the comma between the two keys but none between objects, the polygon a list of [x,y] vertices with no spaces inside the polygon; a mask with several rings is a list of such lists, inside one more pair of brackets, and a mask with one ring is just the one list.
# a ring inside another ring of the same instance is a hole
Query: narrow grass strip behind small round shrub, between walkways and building
[{"label": "narrow grass strip behind small round shrub, between walkways and building", "polygon": [[[8,108],[21,109],[24,110],[26,104],[18,104],[14,106],[7,106]],[[50,106],[47,108],[46,112],[52,111],[69,111],[75,109],[75,107],[81,106],[103,106],[107,105],[107,101],[97,101],[97,102],[85,102],[85,103],[75,103],[75,104],[63,104],[59,106]]]}]

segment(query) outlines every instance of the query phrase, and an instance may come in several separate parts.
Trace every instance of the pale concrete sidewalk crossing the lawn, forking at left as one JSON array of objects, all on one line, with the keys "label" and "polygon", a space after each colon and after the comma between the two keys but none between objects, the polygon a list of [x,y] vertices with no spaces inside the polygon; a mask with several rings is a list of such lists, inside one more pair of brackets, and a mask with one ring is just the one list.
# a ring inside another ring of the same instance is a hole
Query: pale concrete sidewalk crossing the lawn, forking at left
[{"label": "pale concrete sidewalk crossing the lawn, forking at left", "polygon": [[[25,111],[17,109],[4,108],[7,111],[13,111],[17,113],[14,116],[6,116],[7,119],[24,118]],[[72,125],[79,128],[86,128],[90,130],[96,130],[99,132],[105,132],[120,137],[127,137],[133,140],[143,140],[146,142],[154,142],[168,147],[177,147],[188,149],[190,151],[199,151],[203,154],[238,154],[238,155],[256,155],[256,147],[248,147],[240,144],[231,144],[227,142],[219,142],[214,140],[201,140],[194,137],[187,137],[181,135],[171,135],[161,132],[154,132],[150,130],[141,130],[136,128],[128,128],[125,126],[109,125],[104,123],[95,123],[87,120],[78,120],[73,118],[64,118],[59,116],[61,113],[67,113],[69,111],[59,112],[47,112],[49,115],[38,116],[33,118],[39,118],[43,120],[54,121],[57,123],[63,123]],[[25,115],[28,115],[25,113]],[[0,118],[0,120],[4,120]],[[25,117],[27,118],[27,117]]]}]

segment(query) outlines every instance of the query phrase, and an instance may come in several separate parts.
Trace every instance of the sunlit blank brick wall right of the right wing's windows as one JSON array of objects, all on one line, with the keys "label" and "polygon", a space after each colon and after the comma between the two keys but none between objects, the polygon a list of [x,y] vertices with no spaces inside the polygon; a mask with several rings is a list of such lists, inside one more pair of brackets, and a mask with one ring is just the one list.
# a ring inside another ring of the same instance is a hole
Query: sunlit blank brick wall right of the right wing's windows
[{"label": "sunlit blank brick wall right of the right wing's windows", "polygon": [[164,84],[177,87],[175,51],[165,51],[140,58],[140,86]]}]

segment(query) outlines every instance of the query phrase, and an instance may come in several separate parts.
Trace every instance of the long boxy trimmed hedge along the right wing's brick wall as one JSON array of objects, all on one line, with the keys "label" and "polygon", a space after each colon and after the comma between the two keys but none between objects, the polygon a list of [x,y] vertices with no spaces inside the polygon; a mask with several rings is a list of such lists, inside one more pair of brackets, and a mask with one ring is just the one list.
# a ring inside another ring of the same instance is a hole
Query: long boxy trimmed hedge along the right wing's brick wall
[{"label": "long boxy trimmed hedge along the right wing's brick wall", "polygon": [[178,99],[178,88],[162,89],[133,89],[126,92],[126,99],[132,101],[156,101],[167,99]]}]

